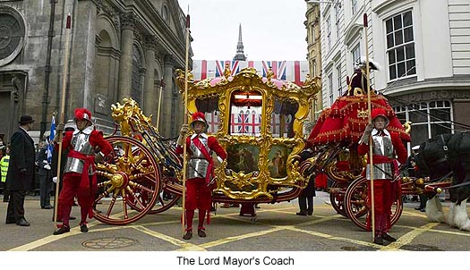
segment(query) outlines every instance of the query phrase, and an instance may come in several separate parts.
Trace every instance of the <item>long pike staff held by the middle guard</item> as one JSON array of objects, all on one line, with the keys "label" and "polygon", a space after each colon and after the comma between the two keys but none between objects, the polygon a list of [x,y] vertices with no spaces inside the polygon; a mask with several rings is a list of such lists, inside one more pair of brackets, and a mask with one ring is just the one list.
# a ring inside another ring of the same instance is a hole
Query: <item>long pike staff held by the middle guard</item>
[{"label": "long pike staff held by the middle guard", "polygon": [[[188,65],[189,65],[189,30],[190,17],[189,17],[189,5],[188,14],[186,15],[186,55],[184,59],[184,124],[188,123]],[[186,146],[186,133],[183,136],[183,215],[182,215],[182,226],[181,235],[184,236],[184,222],[186,220],[185,209],[186,209],[186,158],[187,158],[187,146]]]}]

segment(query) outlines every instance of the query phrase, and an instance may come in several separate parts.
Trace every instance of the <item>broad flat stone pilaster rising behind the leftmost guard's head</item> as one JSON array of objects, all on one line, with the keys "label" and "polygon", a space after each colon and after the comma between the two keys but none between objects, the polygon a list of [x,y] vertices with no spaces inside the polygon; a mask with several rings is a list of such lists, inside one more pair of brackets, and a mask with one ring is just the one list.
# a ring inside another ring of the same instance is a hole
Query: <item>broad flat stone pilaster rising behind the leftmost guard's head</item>
[{"label": "broad flat stone pilaster rising behind the leftmost guard's head", "polygon": [[70,42],[70,87],[67,90],[68,98],[65,106],[70,108],[69,112],[73,112],[76,107],[86,107],[93,112],[96,23],[90,21],[97,20],[97,5],[94,1],[82,0],[78,2],[76,8],[76,13],[80,14],[80,17],[73,19],[73,37]]}]

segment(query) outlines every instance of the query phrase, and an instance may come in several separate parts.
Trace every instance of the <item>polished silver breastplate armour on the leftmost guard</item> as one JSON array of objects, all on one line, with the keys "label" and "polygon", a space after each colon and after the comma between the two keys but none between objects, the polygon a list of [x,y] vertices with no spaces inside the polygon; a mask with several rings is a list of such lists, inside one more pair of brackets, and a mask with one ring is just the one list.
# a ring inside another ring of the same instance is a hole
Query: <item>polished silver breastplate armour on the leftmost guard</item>
[{"label": "polished silver breastplate armour on the leftmost guard", "polygon": [[[85,134],[82,132],[78,132],[76,134],[73,134],[72,140],[70,142],[73,150],[86,155],[90,156],[93,155],[93,147],[90,145],[90,134]],[[84,161],[81,160],[80,158],[76,157],[67,157],[67,163],[65,164],[65,169],[64,173],[82,173],[83,172],[83,165]],[[90,167],[90,172],[91,172],[91,167]]]}]

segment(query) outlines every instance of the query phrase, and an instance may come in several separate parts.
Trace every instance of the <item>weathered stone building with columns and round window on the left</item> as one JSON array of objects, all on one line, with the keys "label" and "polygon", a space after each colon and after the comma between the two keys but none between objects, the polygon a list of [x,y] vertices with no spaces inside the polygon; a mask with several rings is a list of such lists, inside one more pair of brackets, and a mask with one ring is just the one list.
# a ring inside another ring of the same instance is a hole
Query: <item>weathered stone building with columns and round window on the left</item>
[{"label": "weathered stone building with columns and round window on the left", "polygon": [[21,114],[36,120],[34,137],[49,129],[52,114],[61,111],[63,81],[65,120],[83,106],[110,133],[110,105],[132,97],[154,120],[160,113],[163,136],[177,134],[183,109],[175,69],[185,64],[185,15],[176,0],[0,0],[0,29],[7,37],[0,41],[6,140]]}]

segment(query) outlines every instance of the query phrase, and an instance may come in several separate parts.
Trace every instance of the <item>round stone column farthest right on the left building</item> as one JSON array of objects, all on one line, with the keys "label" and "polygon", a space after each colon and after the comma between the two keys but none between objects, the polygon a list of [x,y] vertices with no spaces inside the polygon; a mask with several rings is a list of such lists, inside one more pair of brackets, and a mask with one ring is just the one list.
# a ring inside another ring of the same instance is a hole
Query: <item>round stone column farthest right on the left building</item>
[{"label": "round stone column farthest right on the left building", "polygon": [[165,137],[171,136],[172,125],[175,124],[172,119],[172,100],[173,100],[173,67],[175,62],[172,55],[165,55],[163,68],[163,81],[165,82],[165,90],[163,91],[162,107],[160,115],[161,133]]}]

